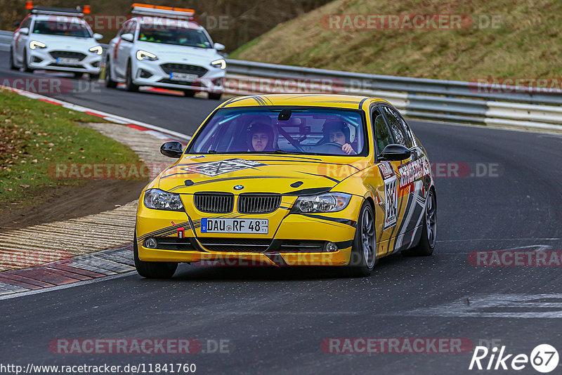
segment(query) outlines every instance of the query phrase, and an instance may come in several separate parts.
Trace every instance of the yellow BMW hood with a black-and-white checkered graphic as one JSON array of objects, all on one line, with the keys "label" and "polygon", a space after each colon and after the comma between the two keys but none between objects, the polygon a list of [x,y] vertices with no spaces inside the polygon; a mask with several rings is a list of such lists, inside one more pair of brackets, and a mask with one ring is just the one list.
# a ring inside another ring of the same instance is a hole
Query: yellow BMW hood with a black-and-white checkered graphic
[{"label": "yellow BMW hood with a black-and-white checkered graphic", "polygon": [[366,165],[365,157],[185,155],[162,172],[158,187],[179,194],[202,191],[318,194],[330,190]]}]

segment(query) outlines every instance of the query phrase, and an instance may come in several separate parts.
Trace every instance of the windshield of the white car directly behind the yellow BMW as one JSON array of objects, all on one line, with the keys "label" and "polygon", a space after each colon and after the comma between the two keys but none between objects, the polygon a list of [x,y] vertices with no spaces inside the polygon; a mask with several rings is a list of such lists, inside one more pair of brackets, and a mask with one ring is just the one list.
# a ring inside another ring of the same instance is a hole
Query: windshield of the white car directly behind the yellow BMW
[{"label": "windshield of the white car directly behind the yellow BMW", "polygon": [[166,25],[141,25],[138,40],[152,43],[175,44],[199,48],[211,48],[211,41],[202,30]]}]

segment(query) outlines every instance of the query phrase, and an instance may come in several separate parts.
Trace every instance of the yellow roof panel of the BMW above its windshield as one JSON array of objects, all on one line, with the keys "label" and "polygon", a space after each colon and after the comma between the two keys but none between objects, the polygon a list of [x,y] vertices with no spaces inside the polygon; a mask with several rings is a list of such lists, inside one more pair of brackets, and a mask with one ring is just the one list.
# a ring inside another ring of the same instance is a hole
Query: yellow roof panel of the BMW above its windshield
[{"label": "yellow roof panel of the BMW above its windshield", "polygon": [[388,103],[379,98],[367,96],[337,95],[337,94],[269,94],[254,96],[239,96],[227,100],[221,107],[255,107],[257,105],[279,106],[307,106],[307,107],[334,107],[359,110],[365,104]]}]

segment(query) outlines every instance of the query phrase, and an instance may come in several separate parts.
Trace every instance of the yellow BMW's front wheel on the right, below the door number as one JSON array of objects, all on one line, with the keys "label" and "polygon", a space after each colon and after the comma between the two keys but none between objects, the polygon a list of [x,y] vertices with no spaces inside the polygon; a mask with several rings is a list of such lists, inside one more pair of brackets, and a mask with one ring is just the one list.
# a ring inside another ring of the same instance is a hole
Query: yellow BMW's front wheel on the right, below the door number
[{"label": "yellow BMW's front wheel on the right, below the door number", "polygon": [[361,206],[355,238],[349,258],[349,274],[353,277],[371,275],[377,264],[377,235],[375,233],[374,209],[370,202],[365,201]]}]

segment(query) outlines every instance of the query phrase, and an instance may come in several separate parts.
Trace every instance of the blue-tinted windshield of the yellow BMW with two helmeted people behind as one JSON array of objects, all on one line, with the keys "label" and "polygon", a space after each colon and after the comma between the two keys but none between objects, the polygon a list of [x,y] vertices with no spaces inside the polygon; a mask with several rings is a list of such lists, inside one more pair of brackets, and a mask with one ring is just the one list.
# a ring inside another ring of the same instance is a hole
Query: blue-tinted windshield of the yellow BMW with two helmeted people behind
[{"label": "blue-tinted windshield of the yellow BMW with two helmeted people behind", "polygon": [[207,121],[188,153],[276,152],[365,154],[365,125],[355,110],[222,109]]}]

